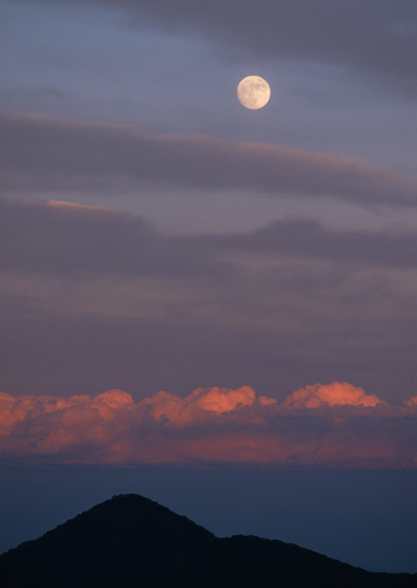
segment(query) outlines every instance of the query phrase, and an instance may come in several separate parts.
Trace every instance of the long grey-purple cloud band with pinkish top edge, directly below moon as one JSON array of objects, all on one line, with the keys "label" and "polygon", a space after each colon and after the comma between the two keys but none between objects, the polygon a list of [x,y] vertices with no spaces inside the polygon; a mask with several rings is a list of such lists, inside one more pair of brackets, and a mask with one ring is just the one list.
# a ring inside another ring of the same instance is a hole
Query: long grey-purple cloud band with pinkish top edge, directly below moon
[{"label": "long grey-purple cloud band with pinkish top edge, directly below moon", "polygon": [[256,189],[273,196],[416,202],[416,178],[359,157],[211,136],[157,135],[129,125],[3,112],[0,151],[3,193],[120,193],[151,181],[199,189]]}]

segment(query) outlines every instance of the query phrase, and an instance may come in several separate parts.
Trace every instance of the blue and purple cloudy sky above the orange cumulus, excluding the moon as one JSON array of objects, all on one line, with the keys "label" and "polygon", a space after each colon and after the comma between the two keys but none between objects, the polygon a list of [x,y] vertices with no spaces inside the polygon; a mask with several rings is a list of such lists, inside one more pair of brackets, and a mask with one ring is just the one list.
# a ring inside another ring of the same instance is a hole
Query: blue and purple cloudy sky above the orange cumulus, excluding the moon
[{"label": "blue and purple cloudy sky above the orange cumulus, excluding the moon", "polygon": [[[0,39],[3,395],[249,386],[281,406],[340,382],[401,429],[414,0],[0,0]],[[258,111],[236,96],[251,74],[271,88]],[[410,463],[414,420],[395,438]]]}]

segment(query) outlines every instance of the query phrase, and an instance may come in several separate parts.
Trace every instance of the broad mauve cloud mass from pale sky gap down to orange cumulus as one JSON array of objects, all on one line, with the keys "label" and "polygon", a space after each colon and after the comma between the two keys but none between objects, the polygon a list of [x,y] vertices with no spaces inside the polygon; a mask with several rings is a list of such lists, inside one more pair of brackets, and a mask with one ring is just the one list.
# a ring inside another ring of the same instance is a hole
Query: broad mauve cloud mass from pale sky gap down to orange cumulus
[{"label": "broad mauve cloud mass from pale sky gap down to orange cumulus", "polygon": [[134,390],[140,372],[143,390],[243,379],[283,399],[342,378],[396,403],[415,365],[415,251],[401,228],[283,219],[175,236],[106,208],[0,199],[1,386]]}]

